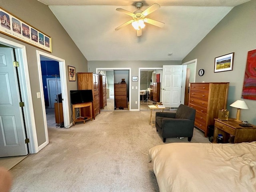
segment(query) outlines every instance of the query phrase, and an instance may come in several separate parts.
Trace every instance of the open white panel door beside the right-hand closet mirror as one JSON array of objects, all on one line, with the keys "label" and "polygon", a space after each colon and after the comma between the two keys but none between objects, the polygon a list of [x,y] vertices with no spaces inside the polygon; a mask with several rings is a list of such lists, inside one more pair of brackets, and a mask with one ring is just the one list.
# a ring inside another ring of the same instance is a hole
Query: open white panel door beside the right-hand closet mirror
[{"label": "open white panel door beside the right-hand closet mirror", "polygon": [[182,65],[164,65],[162,72],[162,103],[165,107],[178,108],[181,104]]}]

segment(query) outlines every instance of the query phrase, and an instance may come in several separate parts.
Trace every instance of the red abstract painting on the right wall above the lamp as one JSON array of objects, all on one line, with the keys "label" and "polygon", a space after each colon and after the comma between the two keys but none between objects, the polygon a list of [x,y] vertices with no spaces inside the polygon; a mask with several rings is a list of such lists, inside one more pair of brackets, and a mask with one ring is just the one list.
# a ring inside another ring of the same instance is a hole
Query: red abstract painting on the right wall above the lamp
[{"label": "red abstract painting on the right wall above the lamp", "polygon": [[248,51],[242,98],[256,100],[256,49]]}]

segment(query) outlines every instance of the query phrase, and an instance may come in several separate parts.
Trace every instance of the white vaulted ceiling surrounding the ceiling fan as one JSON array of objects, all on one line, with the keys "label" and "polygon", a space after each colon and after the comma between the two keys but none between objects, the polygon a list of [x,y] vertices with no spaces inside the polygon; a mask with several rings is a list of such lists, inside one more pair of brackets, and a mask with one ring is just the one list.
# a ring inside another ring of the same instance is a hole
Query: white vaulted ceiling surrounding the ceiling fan
[{"label": "white vaulted ceiling surrounding the ceiling fan", "polygon": [[[182,60],[234,6],[249,0],[38,0],[56,18],[88,61]],[[160,8],[147,16],[164,22],[163,28],[146,24],[137,37],[132,19],[116,11],[141,10],[154,3]]]}]

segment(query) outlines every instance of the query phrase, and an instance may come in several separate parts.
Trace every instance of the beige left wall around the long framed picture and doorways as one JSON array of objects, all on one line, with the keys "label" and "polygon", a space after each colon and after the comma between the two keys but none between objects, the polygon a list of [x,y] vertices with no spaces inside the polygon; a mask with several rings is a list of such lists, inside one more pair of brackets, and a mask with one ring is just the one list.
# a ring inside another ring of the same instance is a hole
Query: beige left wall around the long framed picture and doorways
[{"label": "beige left wall around the long framed picture and doorways", "polygon": [[[58,58],[64,59],[66,61],[66,66],[70,65],[76,67],[76,72],[87,72],[86,58],[76,47],[70,36],[58,22],[48,6],[38,2],[37,0],[0,0],[0,6],[21,20],[24,20],[26,23],[50,36],[52,38],[51,54]],[[36,133],[38,138],[38,146],[40,146],[46,141],[46,139],[42,114],[42,108],[44,106],[41,104],[41,99],[36,97],[36,92],[40,92],[36,50],[40,50],[42,52],[44,52],[44,50],[4,34],[0,34],[0,37],[26,46],[34,116],[36,122]],[[76,90],[77,81],[70,82],[68,81],[68,76],[66,76],[66,78],[68,93],[69,90]]]}]

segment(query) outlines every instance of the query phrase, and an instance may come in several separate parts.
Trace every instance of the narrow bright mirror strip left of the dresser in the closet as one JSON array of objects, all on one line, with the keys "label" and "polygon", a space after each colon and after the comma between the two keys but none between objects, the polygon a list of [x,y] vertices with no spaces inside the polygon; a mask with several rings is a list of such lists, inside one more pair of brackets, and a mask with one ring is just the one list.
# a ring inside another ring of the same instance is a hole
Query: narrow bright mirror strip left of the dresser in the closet
[{"label": "narrow bright mirror strip left of the dresser in the closet", "polygon": [[114,70],[98,70],[98,74],[106,76],[106,105],[101,111],[114,111]]}]

